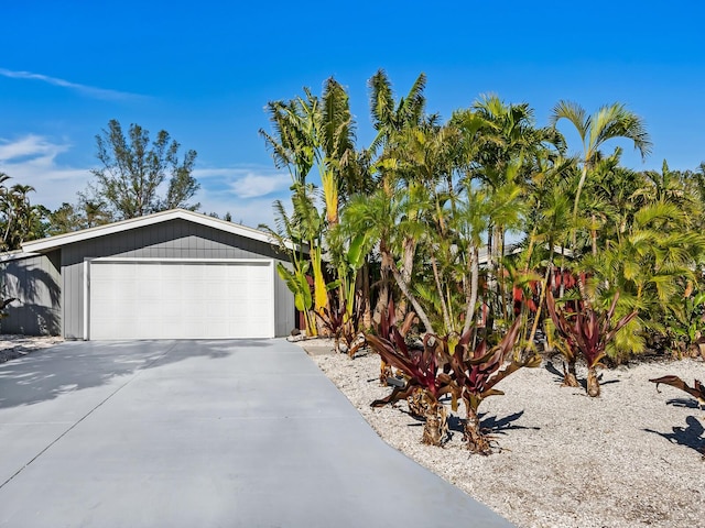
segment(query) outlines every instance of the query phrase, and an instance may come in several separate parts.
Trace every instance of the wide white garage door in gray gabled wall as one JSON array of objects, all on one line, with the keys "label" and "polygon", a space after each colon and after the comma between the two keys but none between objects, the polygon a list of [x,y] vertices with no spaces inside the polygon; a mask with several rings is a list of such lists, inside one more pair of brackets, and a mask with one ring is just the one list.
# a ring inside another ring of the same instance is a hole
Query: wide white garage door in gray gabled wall
[{"label": "wide white garage door in gray gabled wall", "polygon": [[88,339],[273,338],[272,266],[272,261],[90,261]]}]

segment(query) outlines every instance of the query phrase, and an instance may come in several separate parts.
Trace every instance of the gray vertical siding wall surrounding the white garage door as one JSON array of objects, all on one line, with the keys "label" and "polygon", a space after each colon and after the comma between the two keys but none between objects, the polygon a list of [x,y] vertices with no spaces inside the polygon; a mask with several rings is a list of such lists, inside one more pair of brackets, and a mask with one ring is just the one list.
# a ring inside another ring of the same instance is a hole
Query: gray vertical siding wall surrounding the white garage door
[{"label": "gray vertical siding wall surrounding the white garage door", "polygon": [[[63,334],[84,337],[84,258],[121,256],[133,258],[273,258],[286,262],[270,244],[198,226],[172,220],[156,226],[66,245],[62,250],[64,277]],[[273,273],[276,273],[273,271]],[[274,330],[286,336],[295,326],[294,298],[286,285],[274,277]]]}]

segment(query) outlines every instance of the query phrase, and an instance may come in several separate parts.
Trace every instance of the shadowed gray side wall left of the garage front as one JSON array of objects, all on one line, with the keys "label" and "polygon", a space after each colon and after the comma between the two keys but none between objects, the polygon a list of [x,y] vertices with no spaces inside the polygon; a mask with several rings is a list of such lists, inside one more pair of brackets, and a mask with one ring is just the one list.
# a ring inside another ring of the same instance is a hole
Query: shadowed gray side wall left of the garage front
[{"label": "shadowed gray side wall left of the garage front", "polygon": [[28,256],[2,264],[3,298],[15,297],[0,320],[4,333],[61,334],[59,252]]}]

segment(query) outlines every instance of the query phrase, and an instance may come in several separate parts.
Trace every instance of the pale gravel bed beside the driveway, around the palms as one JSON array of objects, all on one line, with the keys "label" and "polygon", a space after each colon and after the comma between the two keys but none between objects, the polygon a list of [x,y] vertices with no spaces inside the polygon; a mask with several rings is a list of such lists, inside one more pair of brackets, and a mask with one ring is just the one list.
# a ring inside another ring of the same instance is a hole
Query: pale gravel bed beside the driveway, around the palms
[{"label": "pale gravel bed beside the driveway, around the palms", "polygon": [[422,424],[405,403],[370,408],[390,392],[379,385],[379,356],[349,360],[325,341],[314,343],[300,344],[384,441],[518,527],[701,526],[705,519],[698,452],[705,410],[686,393],[663,385],[658,393],[648,381],[665,374],[705,381],[701,360],[603,371],[596,399],[562,387],[549,363],[523,369],[498,385],[505,396],[480,405],[498,447],[481,457],[464,448],[458,414],[449,420],[452,438],[435,448],[421,443]]}]

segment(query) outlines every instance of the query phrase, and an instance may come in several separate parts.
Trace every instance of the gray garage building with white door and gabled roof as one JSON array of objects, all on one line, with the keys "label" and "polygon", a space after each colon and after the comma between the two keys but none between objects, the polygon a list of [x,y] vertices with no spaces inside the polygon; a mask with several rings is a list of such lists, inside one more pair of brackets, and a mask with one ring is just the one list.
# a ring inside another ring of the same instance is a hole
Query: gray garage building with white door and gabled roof
[{"label": "gray garage building with white door and gabled roof", "polygon": [[258,230],[174,209],[26,242],[0,256],[3,333],[65,339],[286,336],[294,298]]}]

